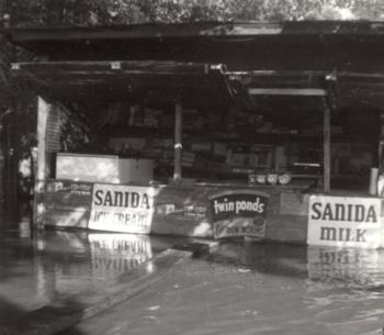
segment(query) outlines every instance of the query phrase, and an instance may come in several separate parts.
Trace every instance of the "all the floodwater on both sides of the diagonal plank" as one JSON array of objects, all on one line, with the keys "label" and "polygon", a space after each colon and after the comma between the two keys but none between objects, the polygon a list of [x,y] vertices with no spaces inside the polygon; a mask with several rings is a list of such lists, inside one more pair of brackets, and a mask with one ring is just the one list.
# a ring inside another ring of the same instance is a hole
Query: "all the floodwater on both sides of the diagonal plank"
[{"label": "all the floodwater on both sides of the diagonal plank", "polygon": [[[127,234],[0,235],[0,324],[113,286],[177,241]],[[60,335],[383,334],[384,250],[223,242]]]}]

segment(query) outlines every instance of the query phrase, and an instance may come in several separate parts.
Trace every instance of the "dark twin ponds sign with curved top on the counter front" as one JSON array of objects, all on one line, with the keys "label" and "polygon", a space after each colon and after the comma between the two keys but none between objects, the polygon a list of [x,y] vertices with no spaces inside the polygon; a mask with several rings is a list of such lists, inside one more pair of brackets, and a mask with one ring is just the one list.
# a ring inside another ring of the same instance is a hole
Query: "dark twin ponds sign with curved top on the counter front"
[{"label": "dark twin ponds sign with curved top on the counter front", "polygon": [[214,237],[264,237],[269,197],[255,190],[224,191],[210,197]]}]

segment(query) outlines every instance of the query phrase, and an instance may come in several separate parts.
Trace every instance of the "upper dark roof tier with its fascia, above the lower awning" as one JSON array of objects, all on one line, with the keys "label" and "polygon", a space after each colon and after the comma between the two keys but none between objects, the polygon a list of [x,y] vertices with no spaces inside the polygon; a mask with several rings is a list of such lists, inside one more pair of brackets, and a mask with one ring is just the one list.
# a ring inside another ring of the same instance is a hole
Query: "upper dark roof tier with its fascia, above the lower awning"
[{"label": "upper dark roof tier with its fascia, above the lower awning", "polygon": [[384,23],[142,24],[3,30],[50,60],[176,60],[229,70],[383,70]]}]

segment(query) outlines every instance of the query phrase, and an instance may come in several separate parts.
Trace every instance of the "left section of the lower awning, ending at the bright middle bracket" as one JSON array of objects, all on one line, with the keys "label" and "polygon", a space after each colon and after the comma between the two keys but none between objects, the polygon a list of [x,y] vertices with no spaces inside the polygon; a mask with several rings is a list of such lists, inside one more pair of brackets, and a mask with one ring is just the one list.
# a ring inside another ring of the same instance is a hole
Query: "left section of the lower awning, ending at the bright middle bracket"
[{"label": "left section of the lower awning, ending at the bright middle bracket", "polygon": [[12,64],[15,78],[29,78],[32,89],[60,101],[179,101],[191,107],[233,103],[224,71],[219,64],[177,62]]}]

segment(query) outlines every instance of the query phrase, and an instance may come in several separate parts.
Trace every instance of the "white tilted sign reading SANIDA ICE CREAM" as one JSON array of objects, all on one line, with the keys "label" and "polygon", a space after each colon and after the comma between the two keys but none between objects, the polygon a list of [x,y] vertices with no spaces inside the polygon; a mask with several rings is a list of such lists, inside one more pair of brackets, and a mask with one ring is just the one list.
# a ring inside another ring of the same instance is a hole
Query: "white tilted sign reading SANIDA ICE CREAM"
[{"label": "white tilted sign reading SANIDA ICE CREAM", "polygon": [[149,234],[154,193],[153,188],[95,183],[89,228]]}]

